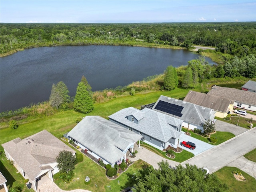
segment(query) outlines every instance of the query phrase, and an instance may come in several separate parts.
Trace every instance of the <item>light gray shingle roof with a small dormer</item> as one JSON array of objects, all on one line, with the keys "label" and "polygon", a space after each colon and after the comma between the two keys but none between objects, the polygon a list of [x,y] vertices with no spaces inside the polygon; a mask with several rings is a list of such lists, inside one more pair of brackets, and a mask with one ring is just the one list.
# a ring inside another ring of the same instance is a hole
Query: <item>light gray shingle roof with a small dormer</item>
[{"label": "light gray shingle roof with a small dormer", "polygon": [[[128,116],[138,114],[144,116],[138,124],[127,119]],[[109,118],[164,142],[167,142],[172,137],[177,138],[181,134],[176,128],[183,122],[180,119],[158,113],[148,108],[138,110],[133,107],[124,108],[110,115]]]}]

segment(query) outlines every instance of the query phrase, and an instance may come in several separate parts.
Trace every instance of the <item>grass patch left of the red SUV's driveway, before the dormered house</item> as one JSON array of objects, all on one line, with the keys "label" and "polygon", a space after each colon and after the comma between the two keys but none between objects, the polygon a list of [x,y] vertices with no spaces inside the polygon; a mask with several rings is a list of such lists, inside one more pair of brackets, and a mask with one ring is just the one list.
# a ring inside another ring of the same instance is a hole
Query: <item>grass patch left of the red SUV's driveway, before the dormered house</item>
[{"label": "grass patch left of the red SUV's driveway, before the dormered house", "polygon": [[162,150],[159,150],[157,148],[154,148],[153,146],[145,143],[145,142],[140,142],[140,146],[143,146],[145,148],[147,148],[148,150],[154,152],[155,154],[163,157],[163,158],[166,158],[166,159],[169,159],[169,160],[172,160],[172,161],[176,161],[176,162],[183,162],[185,160],[188,160],[192,157],[194,157],[194,154],[186,151],[186,150],[182,150],[182,152],[180,153],[176,153],[174,152],[174,155],[175,155],[175,158],[174,159],[171,159],[171,158],[168,158],[165,154],[166,152],[162,151]]}]

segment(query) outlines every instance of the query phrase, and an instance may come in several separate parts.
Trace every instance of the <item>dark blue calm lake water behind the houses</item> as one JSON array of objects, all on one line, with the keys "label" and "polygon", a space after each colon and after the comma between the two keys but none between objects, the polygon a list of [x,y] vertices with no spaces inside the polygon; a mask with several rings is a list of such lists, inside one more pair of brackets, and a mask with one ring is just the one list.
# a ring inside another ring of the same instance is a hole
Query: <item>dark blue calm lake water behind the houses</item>
[{"label": "dark blue calm lake water behind the houses", "polygon": [[196,58],[198,55],[186,50],[129,46],[27,49],[0,58],[0,111],[48,100],[52,84],[60,81],[75,96],[83,75],[93,91],[104,90],[161,74],[169,65],[187,65]]}]

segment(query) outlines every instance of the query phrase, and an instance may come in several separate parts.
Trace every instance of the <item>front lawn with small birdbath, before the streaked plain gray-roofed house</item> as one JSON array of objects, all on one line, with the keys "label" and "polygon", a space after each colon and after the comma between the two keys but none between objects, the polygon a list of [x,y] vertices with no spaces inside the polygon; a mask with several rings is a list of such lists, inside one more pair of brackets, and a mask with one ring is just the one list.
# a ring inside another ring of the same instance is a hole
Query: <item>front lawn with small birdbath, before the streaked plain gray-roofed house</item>
[{"label": "front lawn with small birdbath, before the streaked plain gray-roofed house", "polygon": [[[77,151],[77,153],[81,152]],[[107,190],[116,192],[127,187],[132,187],[136,184],[135,174],[137,170],[148,166],[150,165],[146,162],[138,160],[130,165],[129,168],[118,178],[110,180],[106,177],[106,170],[104,168],[87,156],[83,155],[83,161],[75,165],[74,178],[69,184],[60,180],[58,178],[58,174],[54,175],[54,182],[63,190],[86,189],[93,192],[102,192]],[[90,178],[90,183],[88,185],[84,182],[86,176]],[[120,182],[119,184],[118,180]]]}]

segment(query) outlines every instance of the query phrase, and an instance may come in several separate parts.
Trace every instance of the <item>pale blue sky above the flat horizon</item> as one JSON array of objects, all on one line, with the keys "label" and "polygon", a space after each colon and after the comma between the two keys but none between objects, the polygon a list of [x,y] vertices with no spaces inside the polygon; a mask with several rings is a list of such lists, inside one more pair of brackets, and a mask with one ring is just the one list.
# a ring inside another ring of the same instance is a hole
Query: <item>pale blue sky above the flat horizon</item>
[{"label": "pale blue sky above the flat horizon", "polygon": [[2,23],[255,21],[256,0],[0,0]]}]

